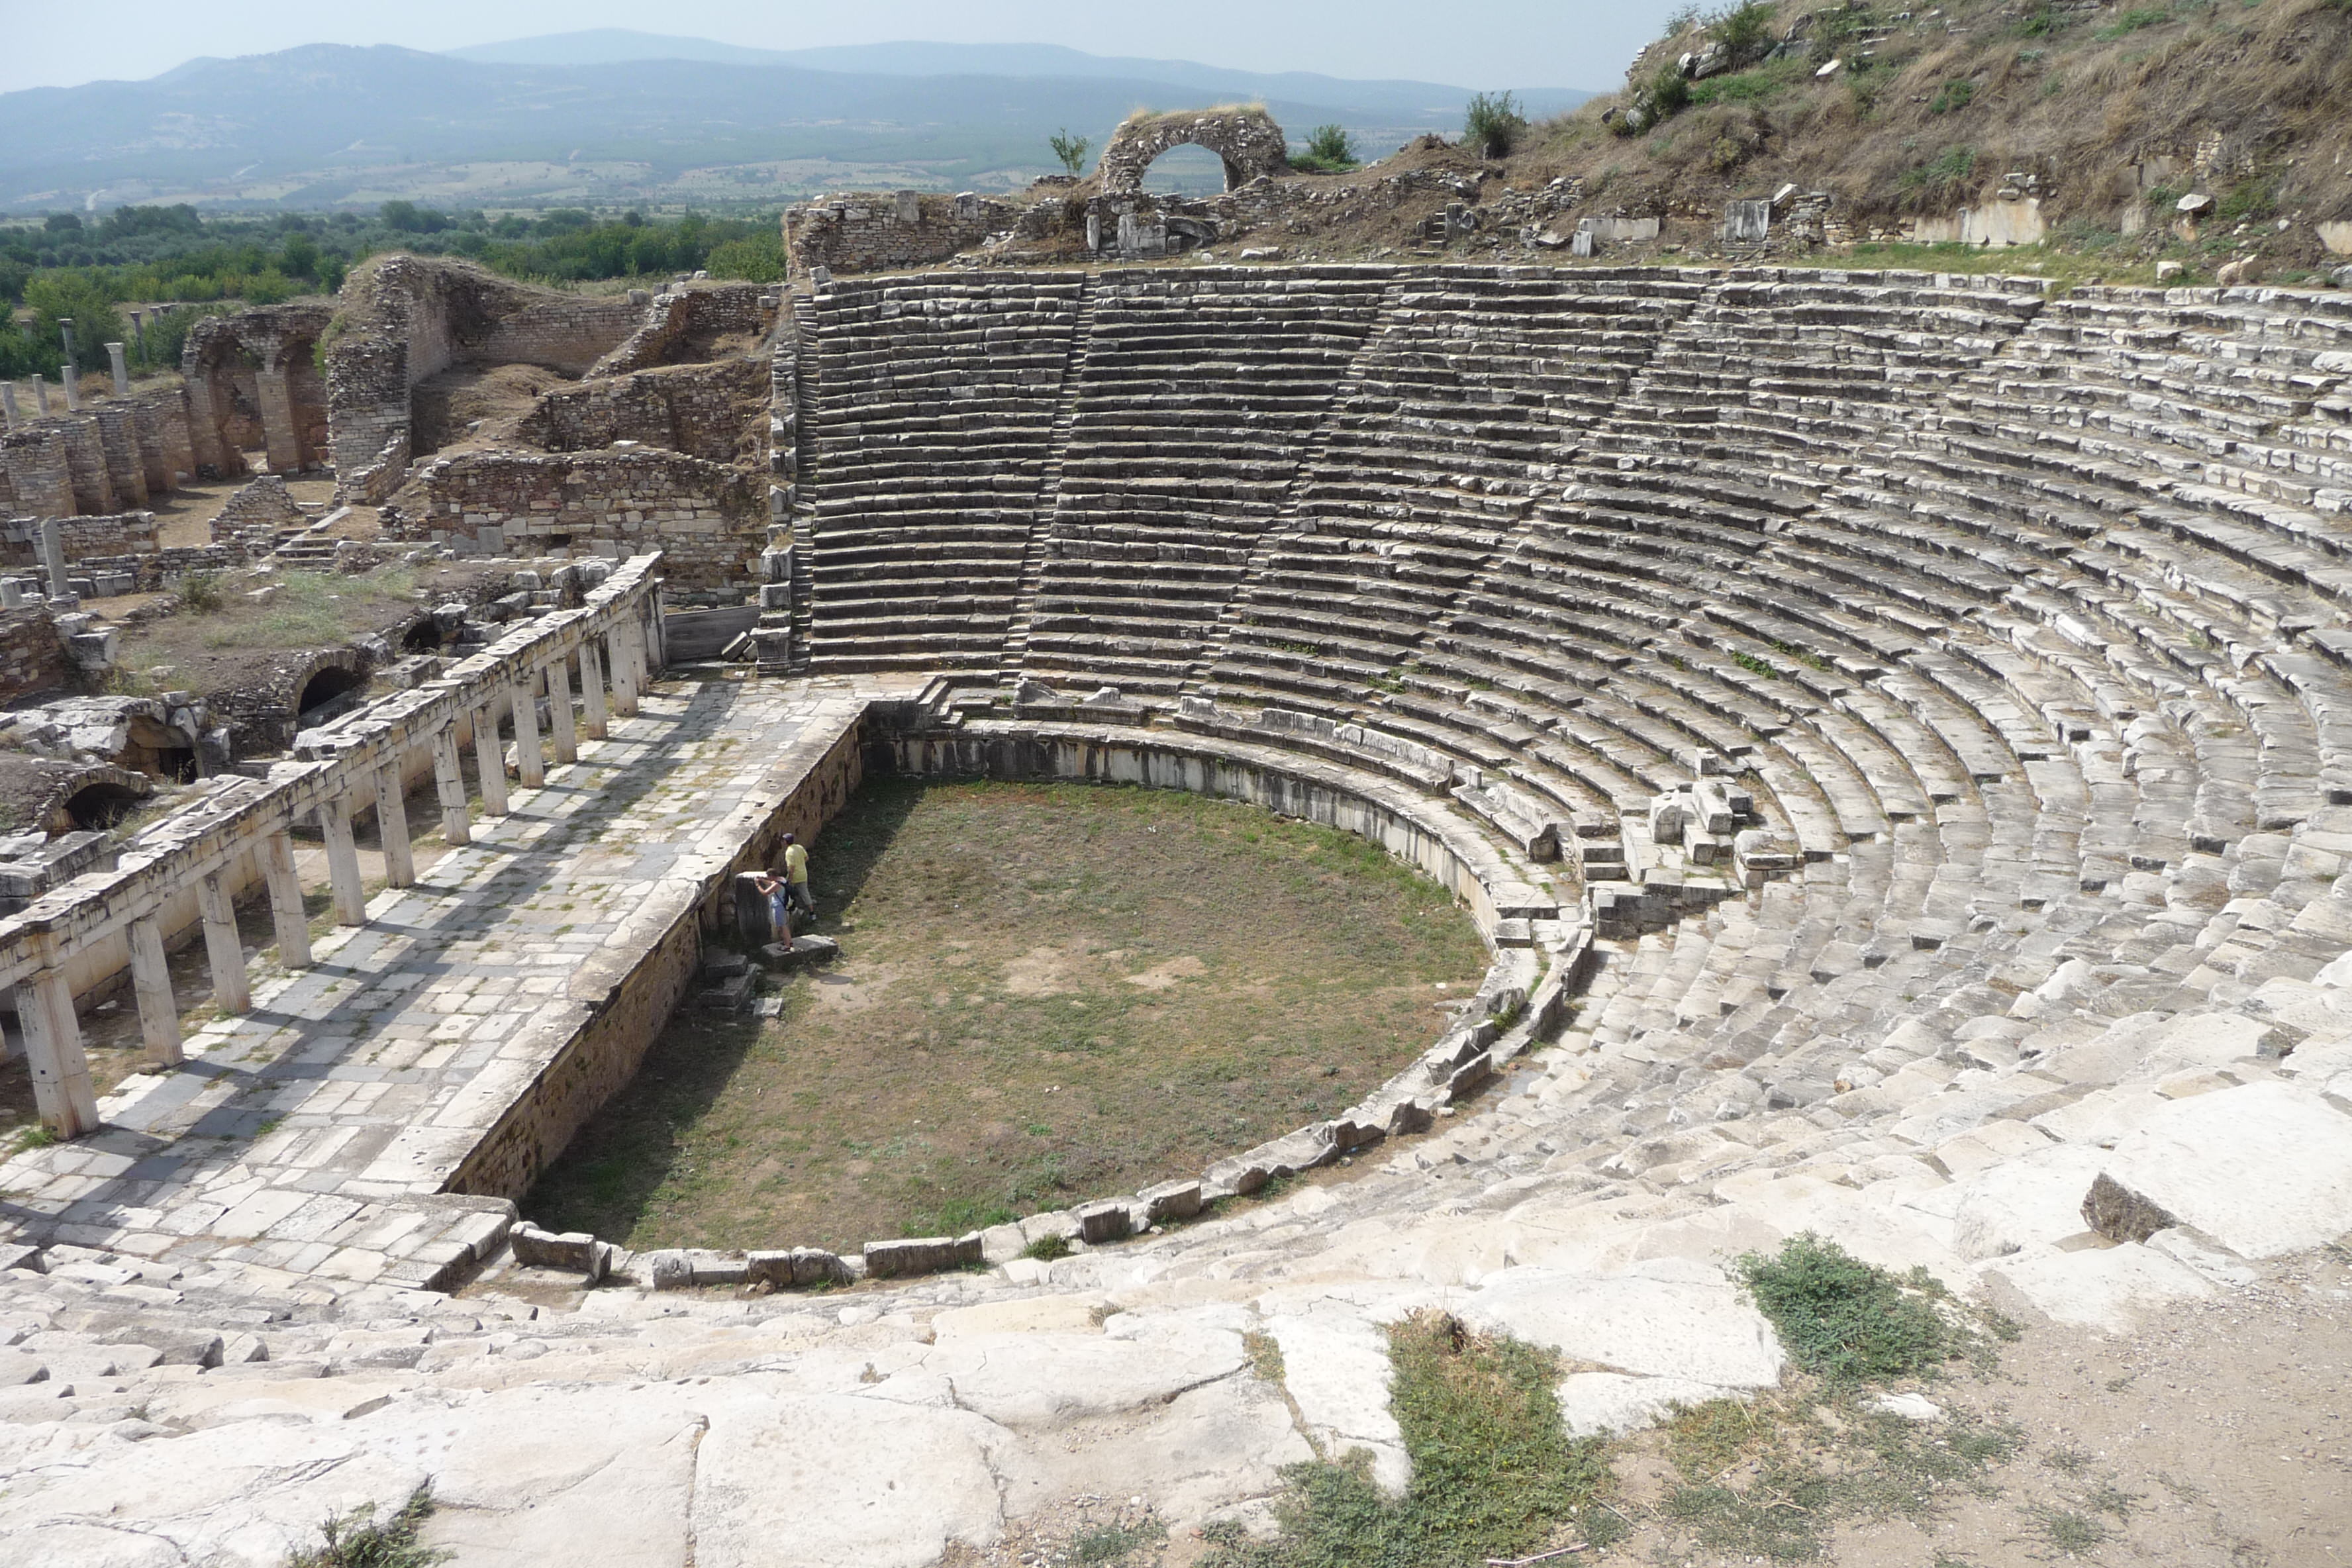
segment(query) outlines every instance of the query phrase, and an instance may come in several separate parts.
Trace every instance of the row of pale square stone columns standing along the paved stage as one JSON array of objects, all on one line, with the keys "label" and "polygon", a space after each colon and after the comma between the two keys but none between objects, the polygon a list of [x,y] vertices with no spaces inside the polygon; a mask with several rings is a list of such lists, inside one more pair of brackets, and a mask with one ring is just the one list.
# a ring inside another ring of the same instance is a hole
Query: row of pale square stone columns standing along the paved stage
[{"label": "row of pale square stone columns standing along the paved stage", "polygon": [[[503,689],[466,710],[473,731],[475,764],[482,785],[482,813],[510,816],[506,790],[506,748],[499,741],[499,705],[508,708],[515,729],[515,757],[522,788],[536,790],[548,778],[548,745],[539,733],[539,696],[548,696],[555,762],[576,762],[581,736],[604,738],[612,717],[633,717],[637,693],[659,658],[659,635],[649,644],[644,621],[623,616],[602,637],[579,646],[579,701],[572,710],[572,656],[529,665]],[[433,783],[442,809],[442,832],[449,844],[473,842],[466,773],[459,757],[459,715],[452,715],[426,745],[433,748]],[[346,790],[318,806],[320,835],[327,844],[327,884],[334,917],[343,926],[367,924],[367,884],[360,875],[360,842],[353,832],[353,797],[374,795],[376,832],[383,842],[383,879],[390,886],[416,884],[416,856],[409,844],[405,809],[405,757],[390,755],[374,769],[350,769]],[[261,835],[256,846],[270,898],[270,924],[278,933],[278,959],[287,969],[310,966],[310,922],[303,914],[301,877],[294,870],[292,823]],[[238,940],[238,914],[221,872],[205,872],[198,884],[198,910],[205,931],[205,957],[212,966],[212,994],[223,1013],[252,1009],[252,985],[245,973],[245,945]],[[42,936],[45,950],[35,973],[16,983],[16,1018],[24,1027],[26,1060],[33,1072],[33,1100],[42,1124],[59,1138],[80,1138],[99,1126],[99,1100],[89,1079],[82,1030],[73,1013],[73,987],[66,954],[56,938]],[[129,922],[132,994],[139,1004],[139,1034],[146,1060],[169,1067],[183,1060],[179,1004],[172,999],[172,971],[165,959],[158,914]]]}]

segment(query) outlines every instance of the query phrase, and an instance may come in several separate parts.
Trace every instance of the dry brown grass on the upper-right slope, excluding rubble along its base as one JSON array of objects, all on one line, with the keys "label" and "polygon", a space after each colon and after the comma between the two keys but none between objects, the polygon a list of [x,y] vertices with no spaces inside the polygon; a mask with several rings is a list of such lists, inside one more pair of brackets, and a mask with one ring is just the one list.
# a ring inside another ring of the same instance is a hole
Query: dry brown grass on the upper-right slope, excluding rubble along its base
[{"label": "dry brown grass on the upper-right slope, excluding rubble along its base", "polygon": [[[1773,38],[1816,7],[1783,0]],[[1828,14],[1828,12],[1823,12]],[[1955,0],[1938,12],[1877,7],[1875,59],[1813,75],[1828,47],[1691,85],[1691,108],[1639,136],[1611,136],[1599,99],[1543,127],[1557,172],[1606,179],[1621,195],[1828,188],[1853,214],[1950,212],[1985,200],[2011,172],[2034,174],[2046,214],[2112,228],[2143,186],[2173,179],[2145,158],[2211,160],[2201,188],[2251,188],[2241,209],[2352,216],[2352,7],[2340,0],[2180,0],[2091,16]],[[1698,28],[1656,45],[1642,82]],[[2218,139],[2218,148],[2213,141]],[[1959,179],[1936,176],[1966,162]],[[1515,167],[1517,174],[1517,167]],[[2253,244],[2258,235],[2234,235]]]}]

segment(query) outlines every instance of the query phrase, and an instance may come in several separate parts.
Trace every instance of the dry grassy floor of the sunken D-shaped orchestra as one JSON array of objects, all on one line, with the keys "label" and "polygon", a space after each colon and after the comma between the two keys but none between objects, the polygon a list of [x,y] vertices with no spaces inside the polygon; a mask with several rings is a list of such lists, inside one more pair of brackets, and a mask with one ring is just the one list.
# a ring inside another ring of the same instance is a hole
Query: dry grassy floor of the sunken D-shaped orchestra
[{"label": "dry grassy floor of the sunken D-shaped orchestra", "polygon": [[680,1013],[534,1220],[856,1246],[1131,1192],[1345,1110],[1486,964],[1362,839],[1178,792],[884,780],[814,886],[844,961]]}]

